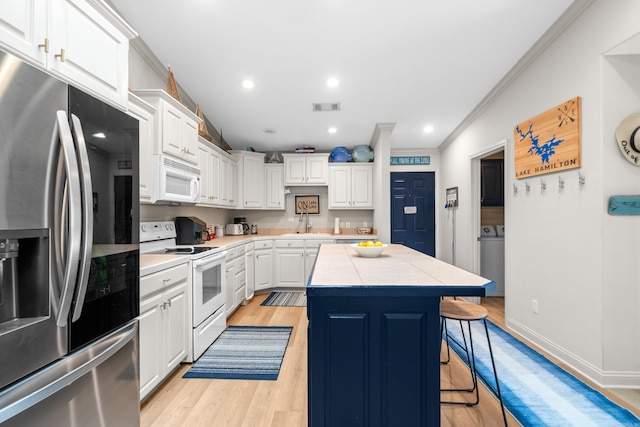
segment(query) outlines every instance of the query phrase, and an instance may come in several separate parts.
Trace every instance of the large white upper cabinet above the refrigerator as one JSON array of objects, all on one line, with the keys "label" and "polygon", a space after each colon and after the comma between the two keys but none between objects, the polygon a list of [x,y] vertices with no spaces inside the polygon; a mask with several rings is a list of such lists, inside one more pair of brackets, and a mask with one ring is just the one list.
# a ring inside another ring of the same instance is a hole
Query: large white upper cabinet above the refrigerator
[{"label": "large white upper cabinet above the refrigerator", "polygon": [[3,0],[0,8],[2,48],[121,109],[134,37],[101,0]]}]

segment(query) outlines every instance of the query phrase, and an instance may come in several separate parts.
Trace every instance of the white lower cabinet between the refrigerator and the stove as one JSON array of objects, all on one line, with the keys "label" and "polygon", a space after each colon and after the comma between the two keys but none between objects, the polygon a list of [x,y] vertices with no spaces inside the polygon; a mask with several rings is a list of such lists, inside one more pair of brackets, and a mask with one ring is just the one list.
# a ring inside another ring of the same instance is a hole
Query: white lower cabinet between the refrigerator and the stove
[{"label": "white lower cabinet between the refrigerator and the stove", "polygon": [[187,356],[191,330],[188,266],[140,278],[140,400]]}]

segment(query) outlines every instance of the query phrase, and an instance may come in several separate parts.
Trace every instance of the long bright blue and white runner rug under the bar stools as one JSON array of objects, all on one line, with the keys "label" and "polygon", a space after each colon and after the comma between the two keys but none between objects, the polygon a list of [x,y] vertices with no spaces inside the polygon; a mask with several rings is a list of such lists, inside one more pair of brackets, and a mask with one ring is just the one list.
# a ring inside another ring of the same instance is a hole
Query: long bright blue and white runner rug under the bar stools
[{"label": "long bright blue and white runner rug under the bar stools", "polygon": [[[467,325],[463,322],[465,332]],[[482,322],[471,322],[476,365],[482,380],[495,389]],[[527,426],[640,426],[631,411],[609,400],[542,354],[487,321],[505,407]],[[449,335],[462,342],[458,322],[447,321]],[[467,362],[464,350],[450,340]]]}]

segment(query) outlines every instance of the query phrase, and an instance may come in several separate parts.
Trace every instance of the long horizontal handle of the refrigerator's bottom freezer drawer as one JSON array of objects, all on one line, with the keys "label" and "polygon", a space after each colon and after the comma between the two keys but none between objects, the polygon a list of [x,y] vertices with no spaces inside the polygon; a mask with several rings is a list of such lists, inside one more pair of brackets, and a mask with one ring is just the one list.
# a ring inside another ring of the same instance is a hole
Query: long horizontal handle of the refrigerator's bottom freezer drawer
[{"label": "long horizontal handle of the refrigerator's bottom freezer drawer", "polygon": [[107,361],[138,334],[137,320],[95,344],[61,359],[35,378],[0,394],[0,424],[37,405]]}]

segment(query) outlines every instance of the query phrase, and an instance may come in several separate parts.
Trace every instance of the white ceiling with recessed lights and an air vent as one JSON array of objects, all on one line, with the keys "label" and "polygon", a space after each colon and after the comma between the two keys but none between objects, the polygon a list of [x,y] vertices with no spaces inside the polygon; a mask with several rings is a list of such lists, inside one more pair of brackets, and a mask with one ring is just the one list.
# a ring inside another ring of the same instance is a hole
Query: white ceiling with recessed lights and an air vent
[{"label": "white ceiling with recessed lights and an air vent", "polygon": [[269,152],[369,144],[376,123],[392,149],[437,148],[573,1],[111,3],[231,147]]}]

